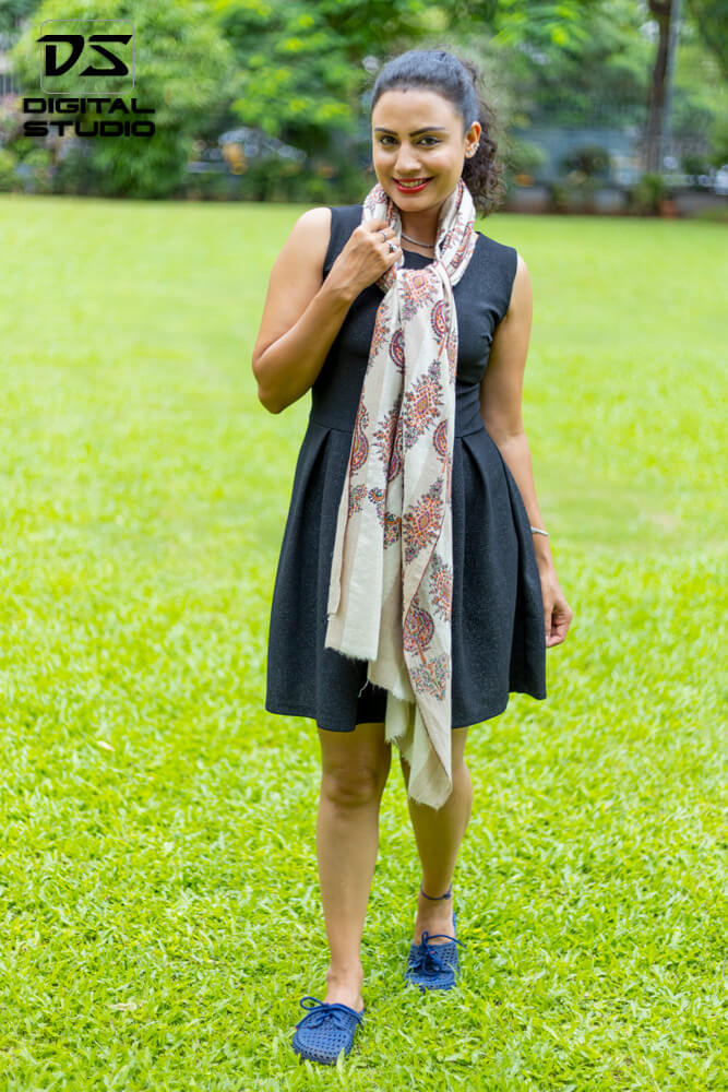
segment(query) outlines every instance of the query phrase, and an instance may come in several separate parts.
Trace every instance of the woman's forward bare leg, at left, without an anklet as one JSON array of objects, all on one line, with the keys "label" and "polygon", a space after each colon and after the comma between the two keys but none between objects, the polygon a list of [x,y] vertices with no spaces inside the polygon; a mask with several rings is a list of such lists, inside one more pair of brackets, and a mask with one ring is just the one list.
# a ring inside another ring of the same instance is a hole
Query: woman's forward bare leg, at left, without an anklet
[{"label": "woman's forward bare leg, at left, without an anklet", "polygon": [[331,964],[325,1001],[363,1008],[360,947],[379,852],[379,807],[392,761],[381,723],[319,728],[317,852]]}]

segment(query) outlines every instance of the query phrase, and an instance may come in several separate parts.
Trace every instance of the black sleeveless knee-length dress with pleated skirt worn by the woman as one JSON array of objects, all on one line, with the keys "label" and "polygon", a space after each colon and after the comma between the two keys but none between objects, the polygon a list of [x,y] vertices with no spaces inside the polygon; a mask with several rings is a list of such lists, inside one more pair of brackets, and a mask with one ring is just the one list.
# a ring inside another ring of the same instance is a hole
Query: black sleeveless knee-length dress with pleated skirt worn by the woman
[{"label": "black sleeveless knee-length dress with pleated skirt worn by the woman", "polygon": [[[361,204],[334,206],[324,278],[355,227]],[[477,233],[453,288],[458,324],[452,468],[452,727],[502,713],[511,691],[546,698],[546,630],[528,515],[479,411],[479,383],[516,272],[513,247]],[[404,251],[406,268],[432,259]],[[336,514],[351,448],[377,308],[373,284],[351,304],[313,387],[294,475],[268,629],[265,709],[351,732],[383,721],[386,690],[367,679],[367,661],[324,648]]]}]

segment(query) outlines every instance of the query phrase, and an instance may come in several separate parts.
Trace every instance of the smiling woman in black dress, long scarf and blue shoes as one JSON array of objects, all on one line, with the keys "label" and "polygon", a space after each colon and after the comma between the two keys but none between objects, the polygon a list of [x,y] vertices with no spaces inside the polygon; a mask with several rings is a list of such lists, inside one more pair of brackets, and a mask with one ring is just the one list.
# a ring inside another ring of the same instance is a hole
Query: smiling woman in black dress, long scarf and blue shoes
[{"label": "smiling woman in black dress, long scarf and blue shoes", "polygon": [[294,1048],[324,1064],[349,1053],[362,1022],[359,952],[391,744],[422,866],[405,977],[447,989],[462,943],[451,880],[472,807],[467,727],[501,713],[511,691],[546,697],[546,646],[572,618],[521,417],[528,271],[473,228],[498,180],[477,81],[470,62],[442,50],[382,68],[378,182],[362,204],[299,217],[253,352],[271,413],[312,399],[273,593],[265,708],[314,719],[321,744],[331,964],[325,998],[300,1001],[310,1011]]}]

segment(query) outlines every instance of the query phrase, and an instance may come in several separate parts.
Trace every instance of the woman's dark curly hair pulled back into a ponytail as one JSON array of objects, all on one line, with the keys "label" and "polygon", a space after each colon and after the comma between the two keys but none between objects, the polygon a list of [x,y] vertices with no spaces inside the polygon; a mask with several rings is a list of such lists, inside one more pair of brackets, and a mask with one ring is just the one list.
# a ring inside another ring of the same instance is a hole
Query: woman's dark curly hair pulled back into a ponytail
[{"label": "woman's dark curly hair pulled back into a ponytail", "polygon": [[477,119],[482,132],[477,152],[463,164],[463,181],[478,213],[488,215],[503,197],[503,167],[496,158],[496,114],[480,95],[481,74],[473,61],[446,49],[408,49],[380,69],[370,110],[385,91],[434,91],[449,99],[463,119],[463,135]]}]

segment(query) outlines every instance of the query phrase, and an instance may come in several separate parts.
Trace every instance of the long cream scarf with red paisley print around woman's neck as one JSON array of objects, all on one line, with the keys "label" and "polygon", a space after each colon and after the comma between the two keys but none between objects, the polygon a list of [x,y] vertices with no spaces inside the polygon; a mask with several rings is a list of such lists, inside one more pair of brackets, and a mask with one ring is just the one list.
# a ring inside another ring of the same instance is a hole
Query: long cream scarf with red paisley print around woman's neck
[{"label": "long cream scarf with red paisley print around woman's neck", "polygon": [[[362,223],[399,210],[377,183]],[[368,660],[387,690],[385,738],[409,764],[409,796],[439,808],[452,792],[452,464],[457,313],[452,286],[477,242],[461,178],[440,210],[434,260],[375,282],[385,293],[338,506],[325,648]],[[365,684],[366,685],[366,684]]]}]

